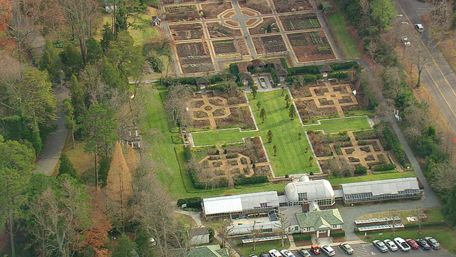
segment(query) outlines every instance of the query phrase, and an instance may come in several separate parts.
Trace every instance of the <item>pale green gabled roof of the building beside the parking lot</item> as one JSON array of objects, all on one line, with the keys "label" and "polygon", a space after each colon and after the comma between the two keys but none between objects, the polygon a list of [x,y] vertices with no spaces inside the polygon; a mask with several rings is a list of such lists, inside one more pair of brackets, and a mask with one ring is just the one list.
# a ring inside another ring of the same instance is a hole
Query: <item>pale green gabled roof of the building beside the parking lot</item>
[{"label": "pale green gabled roof of the building beside the parking lot", "polygon": [[315,230],[343,224],[343,219],[338,209],[323,211],[316,209],[307,213],[296,213],[296,219],[301,228],[315,228]]}]

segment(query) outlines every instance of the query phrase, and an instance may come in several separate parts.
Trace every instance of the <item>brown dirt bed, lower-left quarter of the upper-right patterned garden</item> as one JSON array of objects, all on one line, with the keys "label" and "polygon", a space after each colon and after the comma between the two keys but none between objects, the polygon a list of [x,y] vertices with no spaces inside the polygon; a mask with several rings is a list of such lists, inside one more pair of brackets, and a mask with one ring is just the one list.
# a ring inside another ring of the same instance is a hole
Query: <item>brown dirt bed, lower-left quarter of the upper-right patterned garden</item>
[{"label": "brown dirt bed, lower-left quarter of the upper-right patterned garden", "polygon": [[314,100],[302,100],[295,103],[304,124],[316,124],[318,119],[338,117],[336,107],[318,108]]}]

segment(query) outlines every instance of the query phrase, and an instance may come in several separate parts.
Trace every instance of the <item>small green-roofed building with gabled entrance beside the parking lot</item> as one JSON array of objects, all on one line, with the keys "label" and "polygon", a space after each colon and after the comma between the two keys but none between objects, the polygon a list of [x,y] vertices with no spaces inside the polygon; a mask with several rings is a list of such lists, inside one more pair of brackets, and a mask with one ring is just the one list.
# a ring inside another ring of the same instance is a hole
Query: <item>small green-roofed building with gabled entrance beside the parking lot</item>
[{"label": "small green-roofed building with gabled entrance beside the parking lot", "polygon": [[343,225],[338,209],[320,210],[318,205],[313,211],[296,213],[296,219],[301,233],[316,233],[316,238],[329,237],[331,231],[342,230]]}]

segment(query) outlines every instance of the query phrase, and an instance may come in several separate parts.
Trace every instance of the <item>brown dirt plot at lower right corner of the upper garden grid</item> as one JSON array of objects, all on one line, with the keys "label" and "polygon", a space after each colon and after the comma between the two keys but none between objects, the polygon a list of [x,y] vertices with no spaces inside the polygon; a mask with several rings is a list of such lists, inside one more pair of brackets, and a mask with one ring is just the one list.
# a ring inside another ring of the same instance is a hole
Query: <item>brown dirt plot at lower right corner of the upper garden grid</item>
[{"label": "brown dirt plot at lower right corner of the upper garden grid", "polygon": [[296,59],[301,63],[336,58],[324,31],[287,34],[287,36]]}]

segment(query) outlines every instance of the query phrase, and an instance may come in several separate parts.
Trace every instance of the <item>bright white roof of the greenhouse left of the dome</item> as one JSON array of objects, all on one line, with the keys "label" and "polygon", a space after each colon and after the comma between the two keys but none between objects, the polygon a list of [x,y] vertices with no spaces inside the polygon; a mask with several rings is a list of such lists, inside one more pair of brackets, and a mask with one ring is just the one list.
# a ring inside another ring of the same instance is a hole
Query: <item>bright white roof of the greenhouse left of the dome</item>
[{"label": "bright white roof of the greenhouse left of the dome", "polygon": [[254,208],[261,208],[261,203],[270,207],[279,206],[276,191],[245,193],[236,196],[220,196],[202,199],[204,214],[237,213]]}]

